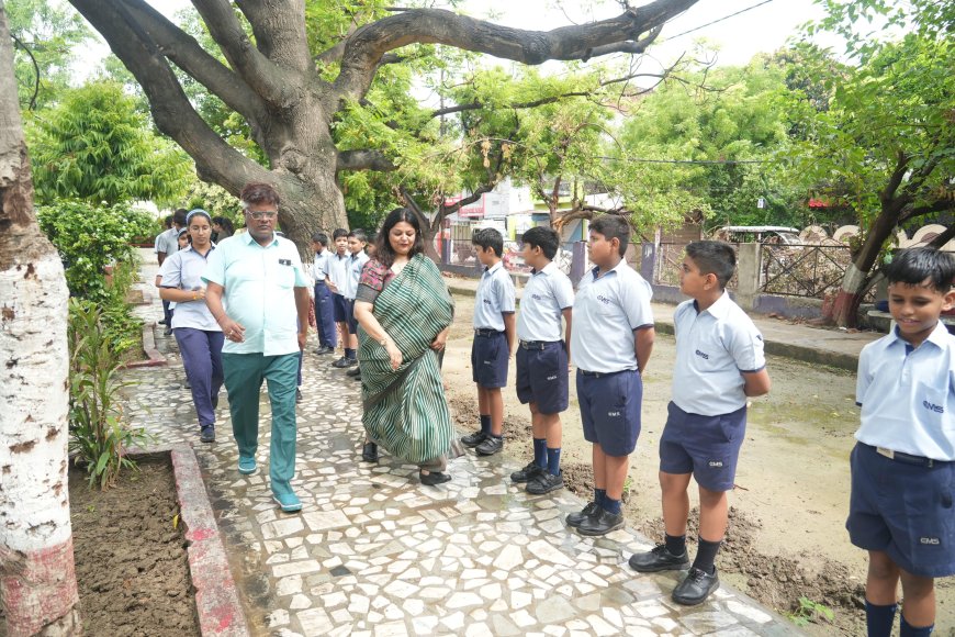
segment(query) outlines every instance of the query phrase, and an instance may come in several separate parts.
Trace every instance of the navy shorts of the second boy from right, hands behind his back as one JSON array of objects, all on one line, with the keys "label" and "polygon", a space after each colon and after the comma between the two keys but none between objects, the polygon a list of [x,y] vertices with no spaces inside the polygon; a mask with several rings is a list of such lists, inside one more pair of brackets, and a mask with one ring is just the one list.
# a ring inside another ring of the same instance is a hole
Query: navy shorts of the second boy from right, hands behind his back
[{"label": "navy shorts of the second boy from right, hands behind his back", "polygon": [[746,407],[704,416],[666,405],[666,426],[660,436],[660,470],[693,473],[710,491],[732,491],[740,447],[746,435]]}]

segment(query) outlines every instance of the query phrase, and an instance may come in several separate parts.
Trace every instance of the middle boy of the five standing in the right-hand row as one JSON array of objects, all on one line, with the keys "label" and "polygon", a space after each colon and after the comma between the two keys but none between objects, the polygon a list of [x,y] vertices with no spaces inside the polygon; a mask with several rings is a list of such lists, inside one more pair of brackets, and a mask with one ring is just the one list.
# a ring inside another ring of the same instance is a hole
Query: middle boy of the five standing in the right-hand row
[{"label": "middle boy of the five standing in the right-hand row", "polygon": [[623,526],[623,483],[640,435],[640,375],[656,334],[650,283],[623,259],[629,242],[630,226],[618,215],[591,224],[595,267],[581,279],[574,300],[571,349],[584,438],[593,444],[594,501],[566,523],[587,536]]}]

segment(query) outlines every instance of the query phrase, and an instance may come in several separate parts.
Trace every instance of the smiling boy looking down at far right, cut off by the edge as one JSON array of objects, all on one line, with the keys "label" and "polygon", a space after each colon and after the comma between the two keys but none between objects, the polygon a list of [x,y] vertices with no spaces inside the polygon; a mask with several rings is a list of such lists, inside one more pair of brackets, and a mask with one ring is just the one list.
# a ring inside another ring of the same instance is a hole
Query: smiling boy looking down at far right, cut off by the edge
[{"label": "smiling boy looking down at far right, cut off by the edge", "polygon": [[955,258],[903,250],[883,269],[896,327],[863,348],[845,523],[868,551],[868,635],[888,637],[902,583],[901,637],[930,635],[934,578],[955,574],[955,337],[939,320],[955,304]]}]

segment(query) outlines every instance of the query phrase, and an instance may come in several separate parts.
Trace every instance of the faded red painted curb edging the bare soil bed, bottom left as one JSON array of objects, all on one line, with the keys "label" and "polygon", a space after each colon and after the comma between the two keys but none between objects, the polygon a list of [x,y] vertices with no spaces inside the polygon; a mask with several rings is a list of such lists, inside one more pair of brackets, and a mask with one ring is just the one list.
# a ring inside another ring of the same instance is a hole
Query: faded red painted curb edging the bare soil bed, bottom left
[{"label": "faded red painted curb edging the bare soil bed, bottom left", "polygon": [[172,445],[170,454],[180,519],[186,524],[189,541],[189,571],[195,588],[200,630],[203,637],[246,637],[249,628],[195,452],[180,443]]}]

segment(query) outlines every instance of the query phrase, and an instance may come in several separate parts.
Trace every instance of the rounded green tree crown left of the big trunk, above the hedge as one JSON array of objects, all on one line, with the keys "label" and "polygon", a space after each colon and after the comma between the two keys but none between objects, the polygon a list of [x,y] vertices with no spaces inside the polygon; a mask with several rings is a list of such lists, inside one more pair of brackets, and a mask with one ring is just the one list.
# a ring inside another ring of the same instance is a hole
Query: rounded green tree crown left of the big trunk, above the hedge
[{"label": "rounded green tree crown left of the big trunk, above the hedge", "polygon": [[37,201],[178,201],[191,161],[154,135],[135,107],[119,85],[93,82],[27,120]]}]

